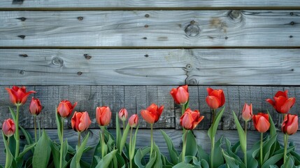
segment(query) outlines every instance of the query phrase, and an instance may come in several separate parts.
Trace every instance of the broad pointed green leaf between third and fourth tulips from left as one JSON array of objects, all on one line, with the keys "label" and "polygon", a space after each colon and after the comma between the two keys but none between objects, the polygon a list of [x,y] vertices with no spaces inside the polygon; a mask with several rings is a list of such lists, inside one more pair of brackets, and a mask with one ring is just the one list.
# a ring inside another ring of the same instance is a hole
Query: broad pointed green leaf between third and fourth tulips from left
[{"label": "broad pointed green leaf between third and fourth tulips from left", "polygon": [[38,139],[36,144],[36,148],[34,150],[34,156],[32,158],[32,167],[33,168],[43,168],[47,167],[49,159],[50,159],[51,147],[50,147],[50,139],[43,130],[43,134],[41,139]]}]

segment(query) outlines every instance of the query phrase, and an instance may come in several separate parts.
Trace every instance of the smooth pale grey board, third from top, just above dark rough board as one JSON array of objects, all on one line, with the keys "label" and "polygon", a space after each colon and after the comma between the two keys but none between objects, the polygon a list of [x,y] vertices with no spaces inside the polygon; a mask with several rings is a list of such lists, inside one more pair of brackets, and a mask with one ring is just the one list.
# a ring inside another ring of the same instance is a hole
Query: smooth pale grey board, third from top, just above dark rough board
[{"label": "smooth pale grey board, third from top, just above dark rough board", "polygon": [[299,85],[298,55],[299,49],[1,49],[0,85]]}]

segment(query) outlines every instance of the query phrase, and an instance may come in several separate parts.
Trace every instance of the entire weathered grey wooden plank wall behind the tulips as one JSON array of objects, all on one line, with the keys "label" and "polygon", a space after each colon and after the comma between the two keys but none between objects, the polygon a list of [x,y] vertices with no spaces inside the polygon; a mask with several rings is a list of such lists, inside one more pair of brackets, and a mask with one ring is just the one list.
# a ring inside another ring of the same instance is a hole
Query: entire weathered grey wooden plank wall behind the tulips
[{"label": "entire weathered grey wooden plank wall behind the tulips", "polygon": [[[169,94],[172,87],[190,85],[190,106],[205,116],[194,132],[206,151],[206,87],[224,90],[218,134],[232,141],[238,135],[231,113],[241,119],[245,102],[255,113],[270,111],[280,130],[282,118],[265,99],[278,90],[300,99],[298,0],[1,0],[0,23],[0,124],[12,106],[5,87],[26,85],[41,99],[38,119],[52,139],[57,139],[54,111],[62,99],[90,113],[91,146],[99,139],[97,106],[110,106],[115,116],[122,107],[139,115],[153,102],[163,104],[155,137],[165,154],[159,129],[181,148],[180,106]],[[32,132],[28,104],[21,109],[21,125]],[[299,105],[291,113],[299,114]],[[115,118],[109,127],[114,132]],[[148,127],[141,120],[139,147],[148,145]],[[65,137],[76,144],[70,128],[66,120]],[[255,131],[250,134],[249,145],[259,139]],[[298,143],[300,136],[292,137]],[[3,158],[0,153],[0,165]]]}]

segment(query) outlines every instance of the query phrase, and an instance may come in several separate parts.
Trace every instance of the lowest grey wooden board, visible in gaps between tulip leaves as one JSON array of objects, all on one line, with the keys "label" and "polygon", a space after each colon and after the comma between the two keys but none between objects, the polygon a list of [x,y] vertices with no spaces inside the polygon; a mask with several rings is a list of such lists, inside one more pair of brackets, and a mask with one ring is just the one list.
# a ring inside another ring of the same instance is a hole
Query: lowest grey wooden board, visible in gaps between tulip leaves
[{"label": "lowest grey wooden board, visible in gaps between tulip leaves", "polygon": [[[31,133],[31,136],[34,136],[33,130],[28,130]],[[53,141],[59,141],[57,137],[57,131],[56,130],[46,130],[48,132],[48,135],[50,139]],[[109,130],[113,135],[115,135],[115,130]],[[88,130],[90,132],[90,139],[87,141],[87,146],[96,146],[99,141],[99,129],[98,130]],[[182,130],[164,130],[166,134],[169,135],[171,140],[173,141],[174,147],[178,151],[178,153],[182,150]],[[194,130],[194,135],[197,139],[197,144],[201,145],[204,151],[206,153],[210,153],[210,139],[208,138],[207,132],[203,130]],[[83,132],[83,136],[85,136],[87,132]],[[218,130],[216,139],[220,139],[220,137],[226,137],[231,141],[232,144],[235,144],[238,141],[238,132],[237,131],[224,131],[224,130]],[[153,137],[155,140],[155,144],[159,146],[159,150],[161,153],[163,153],[166,156],[169,156],[169,151],[166,146],[166,142],[164,141],[164,137],[162,136],[162,133],[160,130],[155,130],[153,133]],[[255,142],[259,141],[260,134],[256,131],[249,131],[248,132],[248,148],[252,148],[252,145],[255,144]],[[64,130],[64,139],[68,139],[69,145],[73,146],[75,148],[76,144],[78,143],[78,135],[77,132],[74,132],[73,130]],[[280,141],[280,144],[283,144],[283,134],[281,132],[278,132],[278,141]],[[297,153],[300,152],[300,143],[299,143],[299,134],[294,134],[289,137],[289,141],[293,141],[294,144],[297,146],[296,151]],[[25,144],[26,141],[24,139],[21,139],[21,144]],[[21,145],[22,146],[22,145]],[[138,130],[137,139],[136,139],[136,148],[143,148],[145,146],[150,146],[150,130]],[[0,148],[3,149],[3,139],[0,135]],[[91,150],[88,153],[83,154],[83,160],[87,162],[92,162],[92,153],[94,151]],[[5,164],[5,153],[3,150],[0,152],[0,165]]]}]

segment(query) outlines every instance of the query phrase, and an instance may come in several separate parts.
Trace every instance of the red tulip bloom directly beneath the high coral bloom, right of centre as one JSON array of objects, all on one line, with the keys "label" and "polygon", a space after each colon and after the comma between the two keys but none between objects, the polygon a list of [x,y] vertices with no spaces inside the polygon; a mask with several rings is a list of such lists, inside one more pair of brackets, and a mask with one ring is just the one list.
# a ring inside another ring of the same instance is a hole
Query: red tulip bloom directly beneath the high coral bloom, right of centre
[{"label": "red tulip bloom directly beneath the high coral bloom, right of centre", "polygon": [[198,110],[192,111],[190,108],[185,110],[183,116],[180,117],[180,125],[185,130],[194,130],[194,128],[203,120],[204,116],[200,116]]}]

